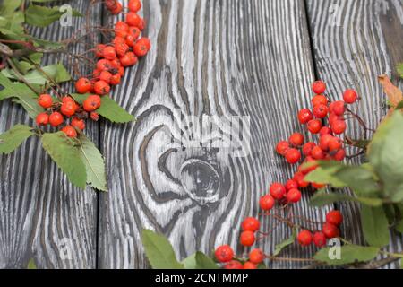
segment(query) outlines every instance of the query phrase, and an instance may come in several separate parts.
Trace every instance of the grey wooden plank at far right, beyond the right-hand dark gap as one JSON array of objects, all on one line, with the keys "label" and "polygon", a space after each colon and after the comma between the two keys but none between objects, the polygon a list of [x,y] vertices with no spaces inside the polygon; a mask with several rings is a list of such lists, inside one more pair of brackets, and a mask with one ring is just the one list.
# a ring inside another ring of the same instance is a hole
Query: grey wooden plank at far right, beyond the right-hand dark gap
[{"label": "grey wooden plank at far right, beyond the right-hand dark gap", "polygon": [[[364,100],[359,110],[365,122],[375,128],[386,113],[380,74],[395,75],[403,61],[403,3],[401,1],[320,1],[308,0],[314,56],[320,77],[329,85],[332,99],[354,88]],[[402,81],[398,83],[403,87]],[[349,129],[353,138],[361,135],[358,126]],[[362,159],[356,159],[356,162]],[[364,243],[356,204],[341,204],[346,215],[347,239]],[[402,250],[402,240],[393,236],[391,247]]]}]

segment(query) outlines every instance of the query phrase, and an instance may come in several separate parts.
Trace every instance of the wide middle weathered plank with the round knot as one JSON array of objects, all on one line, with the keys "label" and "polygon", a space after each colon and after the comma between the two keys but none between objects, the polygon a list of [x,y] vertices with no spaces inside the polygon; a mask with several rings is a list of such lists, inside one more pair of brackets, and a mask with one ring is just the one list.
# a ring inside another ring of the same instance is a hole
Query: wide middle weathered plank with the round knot
[{"label": "wide middle weathered plank with the round knot", "polygon": [[[111,190],[100,196],[101,268],[146,267],[142,228],[166,234],[181,258],[222,243],[236,246],[240,223],[259,213],[270,182],[292,176],[273,150],[302,131],[296,113],[310,104],[304,8],[296,0],[144,2],[153,48],[113,93],[138,120],[102,126]],[[221,126],[231,116],[249,116],[251,153],[181,145],[187,135],[181,120],[202,115],[219,116]],[[307,197],[296,214],[322,220]],[[263,224],[269,230],[274,222]],[[260,245],[270,252],[288,235],[274,230]],[[312,252],[295,247],[285,256]]]}]

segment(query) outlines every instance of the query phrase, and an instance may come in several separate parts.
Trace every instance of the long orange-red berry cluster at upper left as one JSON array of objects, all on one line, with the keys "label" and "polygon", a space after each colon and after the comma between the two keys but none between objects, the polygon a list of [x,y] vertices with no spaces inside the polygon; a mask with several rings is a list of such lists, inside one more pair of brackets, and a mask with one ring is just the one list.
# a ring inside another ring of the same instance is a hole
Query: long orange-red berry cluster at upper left
[{"label": "long orange-red berry cluster at upper left", "polygon": [[[107,0],[105,4],[112,14],[121,13],[123,9],[117,0]],[[145,27],[145,21],[137,14],[140,9],[140,0],[130,0],[130,12],[126,14],[125,22],[116,22],[115,39],[110,44],[99,44],[95,48],[99,60],[92,77],[90,79],[81,77],[75,83],[78,93],[90,93],[82,105],[69,95],[58,101],[49,94],[42,94],[38,103],[47,109],[47,112],[38,115],[37,125],[61,126],[66,117],[67,122],[70,119],[71,121],[62,128],[62,131],[69,137],[76,137],[77,131],[85,128],[84,119],[89,117],[95,121],[99,119],[96,110],[101,106],[102,97],[109,93],[111,86],[120,83],[125,67],[135,65],[138,57],[144,57],[150,51],[150,40],[140,38],[141,30]]]}]

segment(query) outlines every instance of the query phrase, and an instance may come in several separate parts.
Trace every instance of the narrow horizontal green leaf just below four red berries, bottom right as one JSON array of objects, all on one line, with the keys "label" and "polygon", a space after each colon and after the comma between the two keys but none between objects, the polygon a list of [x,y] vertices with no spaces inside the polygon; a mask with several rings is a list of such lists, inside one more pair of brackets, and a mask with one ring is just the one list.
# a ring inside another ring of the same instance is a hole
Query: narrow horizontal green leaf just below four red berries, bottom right
[{"label": "narrow horizontal green leaf just below four red berries, bottom right", "polygon": [[[337,248],[337,247],[334,247]],[[331,248],[322,248],[313,257],[315,260],[326,263],[328,265],[347,265],[356,262],[368,262],[378,256],[379,248],[363,247],[357,245],[347,245],[340,247],[340,259],[330,259]]]}]

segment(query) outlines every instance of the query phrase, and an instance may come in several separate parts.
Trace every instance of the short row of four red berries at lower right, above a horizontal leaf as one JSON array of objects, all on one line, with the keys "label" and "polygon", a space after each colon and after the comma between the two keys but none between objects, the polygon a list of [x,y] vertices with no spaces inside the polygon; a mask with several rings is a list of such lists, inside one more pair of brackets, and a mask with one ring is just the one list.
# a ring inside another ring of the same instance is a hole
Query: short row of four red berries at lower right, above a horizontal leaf
[{"label": "short row of four red berries at lower right, above a horizontal leaf", "polygon": [[343,215],[339,211],[332,211],[326,215],[326,222],[322,226],[322,231],[312,232],[302,230],[299,232],[297,240],[301,246],[307,247],[312,243],[322,248],[326,246],[327,239],[334,239],[340,236],[339,226],[343,222]]}]

